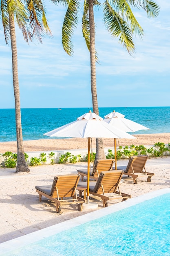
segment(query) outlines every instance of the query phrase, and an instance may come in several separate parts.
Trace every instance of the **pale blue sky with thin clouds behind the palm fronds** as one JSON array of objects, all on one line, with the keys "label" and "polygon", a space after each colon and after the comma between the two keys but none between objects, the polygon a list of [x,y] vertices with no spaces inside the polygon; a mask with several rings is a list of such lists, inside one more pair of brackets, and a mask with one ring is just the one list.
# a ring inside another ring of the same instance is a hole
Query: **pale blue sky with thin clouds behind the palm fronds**
[{"label": "pale blue sky with thin clouds behind the palm fronds", "polygon": [[[99,107],[170,106],[170,2],[156,2],[161,7],[157,18],[134,11],[145,35],[134,39],[133,57],[108,34],[102,10],[95,11]],[[81,31],[82,12],[71,57],[61,41],[66,9],[49,1],[45,4],[53,38],[44,38],[42,45],[36,40],[27,45],[16,28],[21,108],[90,108],[90,54]],[[15,108],[11,47],[5,44],[2,23],[0,28],[0,108]]]}]

